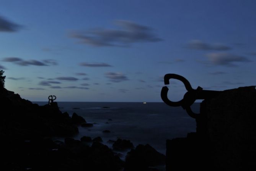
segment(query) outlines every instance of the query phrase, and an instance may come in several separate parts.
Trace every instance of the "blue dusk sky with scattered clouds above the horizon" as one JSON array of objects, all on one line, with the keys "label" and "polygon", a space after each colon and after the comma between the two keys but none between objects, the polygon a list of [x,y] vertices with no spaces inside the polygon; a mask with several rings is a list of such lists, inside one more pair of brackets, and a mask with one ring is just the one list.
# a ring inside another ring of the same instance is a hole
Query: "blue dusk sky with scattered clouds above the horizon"
[{"label": "blue dusk sky with scattered clouds above the horizon", "polygon": [[162,102],[168,73],[253,86],[255,61],[255,0],[0,0],[5,88],[31,101]]}]

